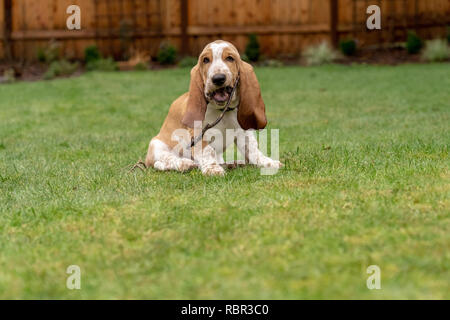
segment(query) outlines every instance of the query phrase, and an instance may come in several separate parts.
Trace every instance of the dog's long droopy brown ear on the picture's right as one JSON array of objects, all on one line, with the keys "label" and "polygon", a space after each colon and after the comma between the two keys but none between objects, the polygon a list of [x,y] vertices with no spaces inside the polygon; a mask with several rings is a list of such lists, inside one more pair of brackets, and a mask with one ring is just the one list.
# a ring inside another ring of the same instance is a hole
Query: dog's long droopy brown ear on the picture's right
[{"label": "dog's long droopy brown ear on the picture's right", "polygon": [[264,129],[267,124],[266,106],[261,97],[258,79],[253,67],[241,61],[240,95],[238,122],[242,129]]}]

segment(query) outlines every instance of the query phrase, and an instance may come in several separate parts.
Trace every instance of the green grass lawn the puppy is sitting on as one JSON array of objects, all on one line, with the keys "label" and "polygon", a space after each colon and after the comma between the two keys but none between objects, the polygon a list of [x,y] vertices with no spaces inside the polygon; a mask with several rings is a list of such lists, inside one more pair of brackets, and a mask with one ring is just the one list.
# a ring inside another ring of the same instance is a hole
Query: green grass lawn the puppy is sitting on
[{"label": "green grass lawn the puppy is sitting on", "polygon": [[450,64],[257,74],[274,176],[124,169],[187,69],[0,86],[0,298],[449,299]]}]

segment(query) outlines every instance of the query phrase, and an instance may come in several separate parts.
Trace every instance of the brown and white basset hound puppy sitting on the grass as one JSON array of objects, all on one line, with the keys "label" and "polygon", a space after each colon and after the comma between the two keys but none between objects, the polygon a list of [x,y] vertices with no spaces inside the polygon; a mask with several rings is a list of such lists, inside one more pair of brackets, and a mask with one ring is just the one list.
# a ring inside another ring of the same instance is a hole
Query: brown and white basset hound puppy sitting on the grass
[{"label": "brown and white basset hound puppy sitting on the grass", "polygon": [[[230,103],[232,110],[206,132],[198,143],[200,148],[196,146],[191,150],[194,122],[201,121],[196,124],[204,127],[219,117],[238,75],[239,85]],[[214,41],[203,49],[191,71],[189,92],[173,102],[159,134],[150,141],[145,164],[163,171],[198,167],[205,175],[224,175],[222,153],[230,142],[219,141],[217,137],[208,142],[206,136],[210,131],[220,131],[219,136],[225,137],[227,129],[234,129],[236,133],[231,143],[236,143],[246,163],[278,169],[281,163],[258,149],[254,130],[263,129],[266,124],[265,105],[253,67],[241,60],[231,43]],[[180,148],[180,143],[184,147]]]}]

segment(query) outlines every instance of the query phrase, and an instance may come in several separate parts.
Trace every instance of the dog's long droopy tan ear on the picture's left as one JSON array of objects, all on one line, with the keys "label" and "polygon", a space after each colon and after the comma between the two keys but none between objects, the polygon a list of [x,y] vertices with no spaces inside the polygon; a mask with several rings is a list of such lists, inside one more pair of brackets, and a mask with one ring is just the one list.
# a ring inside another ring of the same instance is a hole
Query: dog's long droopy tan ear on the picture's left
[{"label": "dog's long droopy tan ear on the picture's left", "polygon": [[206,100],[204,96],[204,83],[200,74],[198,64],[191,70],[191,84],[189,86],[189,97],[187,109],[183,116],[183,124],[190,128],[194,127],[194,121],[203,121],[206,113]]}]

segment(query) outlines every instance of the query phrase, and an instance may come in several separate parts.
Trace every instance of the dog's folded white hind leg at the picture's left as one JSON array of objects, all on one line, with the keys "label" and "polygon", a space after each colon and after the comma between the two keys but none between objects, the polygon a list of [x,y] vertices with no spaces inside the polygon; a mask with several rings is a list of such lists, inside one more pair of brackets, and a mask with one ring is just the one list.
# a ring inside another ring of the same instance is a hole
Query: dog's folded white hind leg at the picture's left
[{"label": "dog's folded white hind leg at the picture's left", "polygon": [[147,167],[152,166],[160,171],[175,170],[183,172],[196,167],[194,161],[180,158],[164,142],[156,138],[150,141],[145,164]]}]

